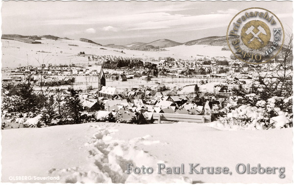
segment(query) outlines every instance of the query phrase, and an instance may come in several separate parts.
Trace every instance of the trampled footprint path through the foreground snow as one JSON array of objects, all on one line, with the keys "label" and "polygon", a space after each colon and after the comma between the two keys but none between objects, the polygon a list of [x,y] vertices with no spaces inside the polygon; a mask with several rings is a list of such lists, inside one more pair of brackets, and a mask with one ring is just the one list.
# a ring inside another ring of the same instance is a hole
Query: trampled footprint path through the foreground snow
[{"label": "trampled footprint path through the foreground snow", "polygon": [[[167,163],[156,159],[144,150],[137,149],[138,145],[152,145],[159,140],[150,140],[151,136],[126,140],[113,139],[118,132],[114,125],[90,125],[98,132],[85,143],[89,148],[88,161],[90,171],[83,171],[79,167],[49,170],[51,176],[60,176],[62,183],[192,183],[187,177],[173,177],[157,174],[157,163]],[[99,127],[99,128],[98,128]],[[133,168],[142,165],[152,167],[152,174],[126,174],[126,164],[133,164]]]}]

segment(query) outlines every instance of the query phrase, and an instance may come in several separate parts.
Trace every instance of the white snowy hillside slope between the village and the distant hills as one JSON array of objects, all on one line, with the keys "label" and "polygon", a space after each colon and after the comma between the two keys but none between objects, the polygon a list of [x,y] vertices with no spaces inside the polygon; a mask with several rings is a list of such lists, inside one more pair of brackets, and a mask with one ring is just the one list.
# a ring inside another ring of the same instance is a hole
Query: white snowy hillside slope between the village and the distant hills
[{"label": "white snowy hillside slope between the village and the distant hills", "polygon": [[[77,53],[84,51],[86,54],[98,56],[113,55],[122,57],[137,57],[148,59],[153,57],[173,57],[176,59],[204,58],[200,55],[225,56],[229,58],[230,51],[222,51],[221,46],[175,46],[167,48],[167,51],[138,51],[117,49],[98,46],[75,40],[42,40],[42,44],[28,44],[12,40],[1,40],[2,43],[2,68],[16,68],[26,65],[40,66],[40,64],[91,64],[88,57],[78,57]],[[69,46],[78,45],[78,46]],[[103,48],[103,49],[101,49]],[[122,51],[118,52],[118,51]],[[41,52],[39,52],[41,51]],[[191,56],[193,56],[191,58]],[[206,56],[206,58],[209,58]],[[39,61],[39,62],[38,62]],[[39,64],[40,63],[40,64]]]}]

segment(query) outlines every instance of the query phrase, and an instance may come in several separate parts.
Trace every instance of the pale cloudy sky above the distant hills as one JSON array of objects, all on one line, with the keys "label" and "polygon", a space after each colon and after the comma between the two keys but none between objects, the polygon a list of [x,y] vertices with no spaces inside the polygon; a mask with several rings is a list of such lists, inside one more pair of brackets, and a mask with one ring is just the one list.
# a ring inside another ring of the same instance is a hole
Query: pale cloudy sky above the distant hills
[{"label": "pale cloudy sky above the distant hills", "polygon": [[250,7],[273,12],[292,28],[291,1],[2,1],[2,34],[87,38],[102,45],[225,36]]}]

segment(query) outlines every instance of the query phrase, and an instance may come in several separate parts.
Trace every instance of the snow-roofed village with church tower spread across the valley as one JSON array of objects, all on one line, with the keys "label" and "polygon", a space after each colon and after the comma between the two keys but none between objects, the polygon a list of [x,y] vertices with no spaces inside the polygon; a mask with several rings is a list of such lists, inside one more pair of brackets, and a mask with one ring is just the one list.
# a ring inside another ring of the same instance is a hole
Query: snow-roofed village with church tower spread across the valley
[{"label": "snow-roofed village with church tower spread across the valley", "polygon": [[[79,57],[88,58],[88,63],[2,69],[2,94],[25,83],[31,84],[39,94],[42,88],[51,89],[48,95],[58,89],[62,92],[58,97],[53,95],[52,104],[57,109],[71,97],[67,88],[74,87],[81,90],[78,96],[83,111],[94,115],[96,120],[107,120],[111,114],[112,121],[133,123],[139,114],[142,115],[140,123],[145,124],[160,123],[161,119],[210,122],[226,113],[228,104],[237,106],[242,101],[242,96],[234,91],[249,92],[254,75],[273,71],[278,66],[278,61],[254,67],[240,61],[205,57],[197,60]],[[119,63],[123,67],[117,68]],[[158,118],[159,115],[163,117]],[[176,115],[180,117],[173,117]],[[18,123],[37,124],[25,119],[18,119]]]}]

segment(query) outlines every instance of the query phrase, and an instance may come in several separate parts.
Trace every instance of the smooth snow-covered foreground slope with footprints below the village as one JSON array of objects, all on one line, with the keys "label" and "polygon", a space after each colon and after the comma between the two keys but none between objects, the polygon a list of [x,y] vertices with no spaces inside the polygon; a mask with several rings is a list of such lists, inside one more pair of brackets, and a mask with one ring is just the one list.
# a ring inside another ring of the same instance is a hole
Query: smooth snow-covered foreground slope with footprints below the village
[{"label": "smooth snow-covered foreground slope with footprints below the village", "polygon": [[[9,176],[60,176],[46,182],[84,183],[291,183],[292,128],[221,131],[208,124],[85,123],[1,131],[2,182]],[[157,174],[157,163],[185,165],[184,174]],[[152,174],[125,173],[126,163]],[[189,174],[189,163],[227,166],[229,174]],[[238,174],[238,163],[285,167],[277,174]]]}]

